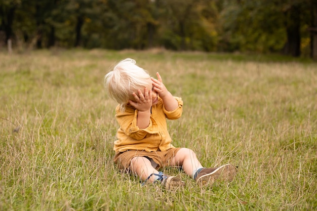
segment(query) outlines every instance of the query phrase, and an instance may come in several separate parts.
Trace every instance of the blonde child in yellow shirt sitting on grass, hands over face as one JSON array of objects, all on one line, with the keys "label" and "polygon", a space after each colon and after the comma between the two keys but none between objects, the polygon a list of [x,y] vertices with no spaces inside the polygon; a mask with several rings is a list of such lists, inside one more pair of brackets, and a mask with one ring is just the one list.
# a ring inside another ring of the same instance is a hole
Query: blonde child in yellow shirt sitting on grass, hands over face
[{"label": "blonde child in yellow shirt sitting on grass, hands over face", "polygon": [[156,76],[157,79],[150,77],[129,58],[105,76],[110,97],[119,103],[115,109],[120,128],[114,142],[114,163],[142,181],[160,182],[168,190],[175,190],[184,182],[159,172],[165,166],[181,166],[199,185],[232,181],[235,166],[204,168],[191,149],[172,145],[166,118],[180,118],[183,101],[172,96],[158,72]]}]

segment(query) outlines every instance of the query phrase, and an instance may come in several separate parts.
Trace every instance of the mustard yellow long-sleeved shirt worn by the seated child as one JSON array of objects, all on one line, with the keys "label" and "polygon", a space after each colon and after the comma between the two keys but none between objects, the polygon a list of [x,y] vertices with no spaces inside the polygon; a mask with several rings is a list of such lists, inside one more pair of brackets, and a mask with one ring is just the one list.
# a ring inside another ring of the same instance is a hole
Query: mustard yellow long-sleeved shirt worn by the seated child
[{"label": "mustard yellow long-sleeved shirt worn by the seated child", "polygon": [[159,97],[159,102],[151,108],[150,123],[145,129],[137,126],[138,110],[126,107],[125,112],[120,111],[120,105],[115,109],[116,120],[120,128],[117,131],[113,150],[124,152],[127,150],[166,151],[175,148],[167,130],[168,119],[178,119],[182,115],[183,101],[181,98],[174,97],[178,102],[178,107],[174,111],[167,111],[163,100]]}]

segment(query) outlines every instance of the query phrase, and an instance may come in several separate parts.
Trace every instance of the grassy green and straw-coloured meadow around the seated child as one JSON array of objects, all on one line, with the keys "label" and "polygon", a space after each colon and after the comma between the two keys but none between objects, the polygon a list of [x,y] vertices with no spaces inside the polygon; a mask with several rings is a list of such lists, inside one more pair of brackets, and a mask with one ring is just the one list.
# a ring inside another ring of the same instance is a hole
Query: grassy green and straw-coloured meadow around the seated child
[{"label": "grassy green and straw-coloured meadow around the seated child", "polygon": [[[124,58],[182,97],[173,144],[204,166],[239,165],[176,192],[113,165],[116,103],[103,77]],[[102,50],[0,53],[0,210],[317,210],[317,65],[278,56]]]}]

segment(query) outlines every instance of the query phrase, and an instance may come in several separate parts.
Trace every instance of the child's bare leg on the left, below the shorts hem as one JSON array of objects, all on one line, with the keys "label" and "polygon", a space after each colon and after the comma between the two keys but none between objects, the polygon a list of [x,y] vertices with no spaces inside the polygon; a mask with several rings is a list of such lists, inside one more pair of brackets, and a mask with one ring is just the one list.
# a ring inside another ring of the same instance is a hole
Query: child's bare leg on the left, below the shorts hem
[{"label": "child's bare leg on the left, below the shorts hem", "polygon": [[[139,176],[142,181],[145,181],[152,173],[159,174],[155,168],[153,168],[151,161],[146,157],[134,157],[131,159],[131,169],[134,174]],[[154,176],[150,177],[147,181],[153,182]]]}]

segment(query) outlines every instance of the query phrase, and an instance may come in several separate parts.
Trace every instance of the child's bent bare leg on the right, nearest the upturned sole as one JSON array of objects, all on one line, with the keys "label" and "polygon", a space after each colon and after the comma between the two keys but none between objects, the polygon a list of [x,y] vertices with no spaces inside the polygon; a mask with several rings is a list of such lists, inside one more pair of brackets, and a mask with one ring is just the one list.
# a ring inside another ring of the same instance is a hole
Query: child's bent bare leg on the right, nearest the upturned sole
[{"label": "child's bent bare leg on the right, nearest the upturned sole", "polygon": [[203,167],[196,154],[187,148],[181,148],[174,156],[174,159],[172,159],[170,165],[182,166],[184,172],[190,177],[193,177],[194,173]]}]

